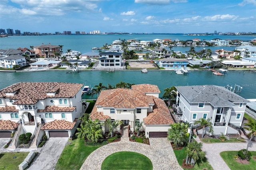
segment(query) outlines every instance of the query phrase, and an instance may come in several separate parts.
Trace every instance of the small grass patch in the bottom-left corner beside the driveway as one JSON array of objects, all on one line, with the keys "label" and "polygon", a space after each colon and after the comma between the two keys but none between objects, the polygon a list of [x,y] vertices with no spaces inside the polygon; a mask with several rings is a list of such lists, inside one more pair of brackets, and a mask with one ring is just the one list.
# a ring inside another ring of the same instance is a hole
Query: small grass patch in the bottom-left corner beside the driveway
[{"label": "small grass patch in the bottom-left corner beside the driveway", "polygon": [[[1,170],[18,170],[29,152],[2,152],[0,154]],[[16,156],[16,158],[14,158]],[[5,168],[6,167],[6,168]]]}]

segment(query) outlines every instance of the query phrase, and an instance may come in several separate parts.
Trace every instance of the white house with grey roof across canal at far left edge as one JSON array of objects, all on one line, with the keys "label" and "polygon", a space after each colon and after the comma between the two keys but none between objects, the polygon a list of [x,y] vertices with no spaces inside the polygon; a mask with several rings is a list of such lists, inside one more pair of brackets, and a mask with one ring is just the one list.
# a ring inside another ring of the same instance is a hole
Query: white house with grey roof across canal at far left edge
[{"label": "white house with grey roof across canal at far left edge", "polygon": [[26,57],[19,49],[0,49],[0,67],[13,68],[14,65],[20,67],[27,65]]}]

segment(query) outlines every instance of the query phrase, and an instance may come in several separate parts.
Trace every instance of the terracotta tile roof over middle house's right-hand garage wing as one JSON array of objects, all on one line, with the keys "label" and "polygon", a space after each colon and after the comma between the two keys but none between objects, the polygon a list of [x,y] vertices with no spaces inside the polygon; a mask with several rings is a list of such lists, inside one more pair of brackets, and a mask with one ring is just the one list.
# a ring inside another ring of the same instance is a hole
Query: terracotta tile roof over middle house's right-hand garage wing
[{"label": "terracotta tile roof over middle house's right-hand garage wing", "polygon": [[[153,97],[153,96],[152,96]],[[170,125],[174,123],[170,111],[164,101],[157,97],[153,97],[156,105],[153,107],[153,112],[149,113],[143,119],[145,125]]]}]

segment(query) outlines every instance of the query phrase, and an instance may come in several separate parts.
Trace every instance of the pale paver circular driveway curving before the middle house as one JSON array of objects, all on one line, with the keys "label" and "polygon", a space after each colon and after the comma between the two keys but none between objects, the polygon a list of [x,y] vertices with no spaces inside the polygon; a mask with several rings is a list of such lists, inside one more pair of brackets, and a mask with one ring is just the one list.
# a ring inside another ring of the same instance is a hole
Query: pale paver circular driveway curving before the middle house
[{"label": "pale paver circular driveway curving before the middle house", "polygon": [[104,145],[92,152],[80,170],[100,170],[104,159],[115,152],[138,152],[147,156],[155,170],[182,170],[166,138],[150,138],[150,145],[138,142],[120,141]]}]

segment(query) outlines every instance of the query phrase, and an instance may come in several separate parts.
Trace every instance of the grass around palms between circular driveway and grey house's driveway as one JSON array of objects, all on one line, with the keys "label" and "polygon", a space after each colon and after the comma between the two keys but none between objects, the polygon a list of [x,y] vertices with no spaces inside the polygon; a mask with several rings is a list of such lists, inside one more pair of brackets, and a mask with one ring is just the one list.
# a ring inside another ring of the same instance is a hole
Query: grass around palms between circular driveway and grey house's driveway
[{"label": "grass around palms between circular driveway and grey house's driveway", "polygon": [[[178,160],[178,163],[180,164],[180,166],[182,166],[183,160],[186,159],[186,156],[187,156],[185,148],[181,150],[173,150],[173,151]],[[202,170],[202,169],[213,170],[212,166],[209,164],[206,158],[204,158],[202,162],[196,162],[194,168],[191,168],[191,169],[183,168],[183,169],[184,170]]]}]

